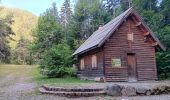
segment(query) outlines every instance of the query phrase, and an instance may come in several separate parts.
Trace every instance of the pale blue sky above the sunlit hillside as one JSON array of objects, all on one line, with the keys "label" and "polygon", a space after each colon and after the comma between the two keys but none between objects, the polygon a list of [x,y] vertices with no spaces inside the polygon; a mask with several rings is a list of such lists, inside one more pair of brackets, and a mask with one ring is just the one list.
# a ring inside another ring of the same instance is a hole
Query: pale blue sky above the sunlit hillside
[{"label": "pale blue sky above the sunlit hillside", "polygon": [[60,9],[64,0],[1,0],[0,5],[27,10],[39,16],[51,7],[53,2],[56,2],[56,6]]}]

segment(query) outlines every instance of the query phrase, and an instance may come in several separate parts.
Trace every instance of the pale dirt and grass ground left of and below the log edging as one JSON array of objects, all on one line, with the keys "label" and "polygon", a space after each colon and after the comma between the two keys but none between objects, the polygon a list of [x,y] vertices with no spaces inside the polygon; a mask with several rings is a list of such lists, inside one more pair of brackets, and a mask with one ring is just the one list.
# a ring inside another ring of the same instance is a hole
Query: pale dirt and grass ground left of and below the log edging
[{"label": "pale dirt and grass ground left of and below the log edging", "polygon": [[[0,65],[0,100],[170,100],[170,95],[115,98],[111,96],[65,98],[42,95],[38,92],[41,84],[34,81],[33,76],[30,75],[35,68],[29,65]],[[82,81],[79,84],[83,84]],[[103,83],[101,85],[103,86]]]}]

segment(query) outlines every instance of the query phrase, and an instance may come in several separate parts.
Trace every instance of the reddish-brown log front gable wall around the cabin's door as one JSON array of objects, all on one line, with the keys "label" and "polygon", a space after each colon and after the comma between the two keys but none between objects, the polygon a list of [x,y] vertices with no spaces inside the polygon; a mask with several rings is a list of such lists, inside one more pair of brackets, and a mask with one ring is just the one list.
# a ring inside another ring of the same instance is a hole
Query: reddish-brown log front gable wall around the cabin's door
[{"label": "reddish-brown log front gable wall around the cabin's door", "polygon": [[[131,46],[127,40],[129,31],[128,20],[131,24],[131,31],[134,34],[134,41]],[[155,47],[149,42],[144,41],[143,34],[142,30],[135,26],[134,21],[128,18],[107,39],[103,47],[105,77],[107,81],[128,81],[127,53],[135,53],[138,81],[157,79]],[[113,68],[111,65],[112,58],[120,58],[122,67]]]}]

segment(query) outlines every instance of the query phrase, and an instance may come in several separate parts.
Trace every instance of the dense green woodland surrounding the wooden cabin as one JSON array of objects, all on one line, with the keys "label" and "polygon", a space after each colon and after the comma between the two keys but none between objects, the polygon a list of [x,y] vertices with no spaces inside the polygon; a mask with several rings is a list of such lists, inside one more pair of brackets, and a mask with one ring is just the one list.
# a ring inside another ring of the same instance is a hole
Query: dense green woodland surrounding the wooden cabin
[{"label": "dense green woodland surrounding the wooden cabin", "polygon": [[[21,64],[39,63],[41,72],[49,77],[73,75],[74,50],[100,25],[132,6],[165,45],[166,51],[156,55],[158,74],[160,78],[170,77],[170,0],[76,0],[74,4],[64,0],[61,8],[53,3],[32,28],[32,41],[21,37],[12,56],[8,43],[16,32],[12,31],[13,20],[8,14],[0,19],[0,26],[3,26],[0,27],[1,61],[10,63],[22,59]],[[25,54],[17,58],[20,52]]]}]

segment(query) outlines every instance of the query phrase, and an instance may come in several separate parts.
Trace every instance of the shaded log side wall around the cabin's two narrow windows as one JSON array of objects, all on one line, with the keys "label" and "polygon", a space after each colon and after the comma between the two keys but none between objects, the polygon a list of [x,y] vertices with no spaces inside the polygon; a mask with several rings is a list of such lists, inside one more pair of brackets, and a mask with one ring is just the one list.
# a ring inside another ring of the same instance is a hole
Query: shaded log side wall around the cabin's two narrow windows
[{"label": "shaded log side wall around the cabin's two narrow windows", "polygon": [[[97,56],[97,67],[92,68],[92,55]],[[84,69],[80,68],[80,60],[84,58]],[[94,79],[96,77],[103,77],[103,51],[102,48],[97,48],[90,52],[81,54],[78,56],[78,72],[77,75],[80,78]]]}]

